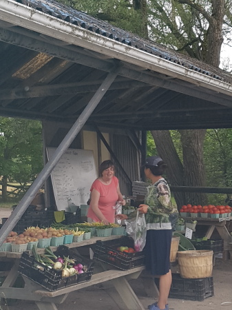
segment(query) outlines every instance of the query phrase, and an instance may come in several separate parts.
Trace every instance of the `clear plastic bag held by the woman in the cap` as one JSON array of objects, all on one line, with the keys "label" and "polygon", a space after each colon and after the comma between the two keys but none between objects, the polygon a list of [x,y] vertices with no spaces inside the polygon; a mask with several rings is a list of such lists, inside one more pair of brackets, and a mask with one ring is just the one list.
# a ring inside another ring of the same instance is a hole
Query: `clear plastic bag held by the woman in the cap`
[{"label": "clear plastic bag held by the woman in the cap", "polygon": [[125,220],[125,225],[128,236],[134,239],[134,249],[138,252],[143,251],[147,235],[145,214],[137,211],[136,218]]}]

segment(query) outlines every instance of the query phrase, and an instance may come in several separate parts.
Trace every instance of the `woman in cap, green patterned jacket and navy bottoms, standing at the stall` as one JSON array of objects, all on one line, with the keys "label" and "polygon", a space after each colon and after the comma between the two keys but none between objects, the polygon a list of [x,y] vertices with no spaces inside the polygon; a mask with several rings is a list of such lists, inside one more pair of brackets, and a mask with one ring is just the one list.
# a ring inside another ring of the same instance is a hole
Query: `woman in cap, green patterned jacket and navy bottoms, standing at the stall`
[{"label": "woman in cap, green patterned jacket and navy bottoms, standing at the stall", "polygon": [[[145,176],[151,180],[151,185],[147,187],[145,203],[138,207],[138,211],[145,214],[147,223],[146,269],[152,275],[160,276],[158,302],[151,304],[148,307],[149,310],[169,309],[167,298],[171,287],[170,248],[172,237],[169,215],[174,210],[171,204],[169,185],[165,178],[162,178],[166,167],[167,165],[158,156],[147,158]],[[125,220],[128,216],[118,214],[116,218]]]}]

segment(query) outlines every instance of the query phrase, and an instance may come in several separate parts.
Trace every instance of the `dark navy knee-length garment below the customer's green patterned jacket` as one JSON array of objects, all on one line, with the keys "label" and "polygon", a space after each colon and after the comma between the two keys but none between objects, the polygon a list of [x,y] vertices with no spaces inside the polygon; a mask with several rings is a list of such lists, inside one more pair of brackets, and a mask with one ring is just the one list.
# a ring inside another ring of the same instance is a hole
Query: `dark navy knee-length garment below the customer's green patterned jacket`
[{"label": "dark navy knee-length garment below the customer's green patterned jacket", "polygon": [[149,229],[145,245],[146,269],[153,276],[162,276],[170,270],[171,229]]}]

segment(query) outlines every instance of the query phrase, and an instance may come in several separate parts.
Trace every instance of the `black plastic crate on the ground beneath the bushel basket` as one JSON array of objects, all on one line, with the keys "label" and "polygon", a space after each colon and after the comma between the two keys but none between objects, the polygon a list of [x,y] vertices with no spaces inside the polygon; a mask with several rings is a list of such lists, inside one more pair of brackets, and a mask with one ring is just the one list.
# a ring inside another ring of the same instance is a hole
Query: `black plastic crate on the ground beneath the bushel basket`
[{"label": "black plastic crate on the ground beneath the bushel basket", "polygon": [[173,274],[169,298],[203,301],[213,296],[213,277],[184,279]]}]

